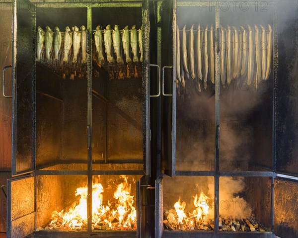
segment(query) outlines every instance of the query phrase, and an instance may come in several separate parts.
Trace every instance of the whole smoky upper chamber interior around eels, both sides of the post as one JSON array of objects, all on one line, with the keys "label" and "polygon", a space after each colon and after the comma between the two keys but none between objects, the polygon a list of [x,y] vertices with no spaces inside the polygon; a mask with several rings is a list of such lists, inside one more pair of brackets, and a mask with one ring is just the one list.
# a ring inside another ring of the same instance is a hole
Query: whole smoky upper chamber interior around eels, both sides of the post
[{"label": "whole smoky upper chamber interior around eels, both sides of the post", "polygon": [[[266,9],[263,12],[250,7],[243,11],[230,7],[220,11],[220,24],[225,29],[229,25],[231,29],[243,26],[246,30],[248,24],[253,29],[257,25],[260,30],[262,25],[268,31],[268,24],[274,26],[275,8],[268,5]],[[208,32],[211,25],[215,27],[215,11],[216,7],[190,7],[177,3],[180,47],[183,26],[186,25],[187,32],[194,24],[196,40],[198,24],[201,31],[207,26]],[[258,45],[267,51],[267,45]],[[261,81],[257,89],[253,83],[247,84],[245,75],[232,79],[229,85],[220,83],[221,170],[272,170],[273,75],[272,57],[269,79]],[[206,89],[201,83],[201,92],[198,92],[193,79],[186,79],[185,88],[181,85],[177,88],[176,170],[214,170],[215,84],[211,82],[209,73],[207,82]]]}]

